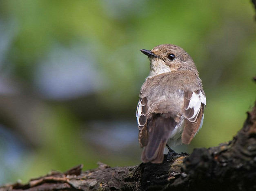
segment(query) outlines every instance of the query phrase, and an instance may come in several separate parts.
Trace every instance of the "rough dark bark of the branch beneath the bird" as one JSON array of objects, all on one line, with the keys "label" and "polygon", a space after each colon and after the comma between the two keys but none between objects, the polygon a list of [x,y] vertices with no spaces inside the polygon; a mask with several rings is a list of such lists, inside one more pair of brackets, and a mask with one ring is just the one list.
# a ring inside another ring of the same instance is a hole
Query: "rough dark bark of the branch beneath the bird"
[{"label": "rough dark bark of the branch beneath the bird", "polygon": [[190,156],[162,164],[114,167],[99,163],[97,169],[81,172],[82,165],[65,173],[52,173],[28,184],[11,184],[0,191],[56,190],[256,190],[256,103],[243,128],[228,143],[195,149]]}]

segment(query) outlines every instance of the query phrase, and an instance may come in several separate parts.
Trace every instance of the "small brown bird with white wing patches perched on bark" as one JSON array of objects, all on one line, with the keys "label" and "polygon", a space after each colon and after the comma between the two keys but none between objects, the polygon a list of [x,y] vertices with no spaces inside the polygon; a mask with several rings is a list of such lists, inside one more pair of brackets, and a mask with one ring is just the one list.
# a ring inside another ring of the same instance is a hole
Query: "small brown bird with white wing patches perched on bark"
[{"label": "small brown bird with white wing patches perched on bark", "polygon": [[202,127],[205,92],[193,59],[179,46],[140,51],[150,60],[137,106],[141,160],[162,163],[167,143],[189,144]]}]

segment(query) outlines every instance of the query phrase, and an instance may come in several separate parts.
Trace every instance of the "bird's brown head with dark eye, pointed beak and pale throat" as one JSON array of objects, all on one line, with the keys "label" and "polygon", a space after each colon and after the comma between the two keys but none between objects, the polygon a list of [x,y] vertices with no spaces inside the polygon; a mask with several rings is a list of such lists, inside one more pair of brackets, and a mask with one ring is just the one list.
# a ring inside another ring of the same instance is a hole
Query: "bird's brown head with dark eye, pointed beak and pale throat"
[{"label": "bird's brown head with dark eye, pointed beak and pale throat", "polygon": [[162,44],[152,50],[141,49],[140,51],[149,56],[150,74],[148,78],[165,72],[182,70],[190,70],[198,75],[193,59],[179,46]]}]

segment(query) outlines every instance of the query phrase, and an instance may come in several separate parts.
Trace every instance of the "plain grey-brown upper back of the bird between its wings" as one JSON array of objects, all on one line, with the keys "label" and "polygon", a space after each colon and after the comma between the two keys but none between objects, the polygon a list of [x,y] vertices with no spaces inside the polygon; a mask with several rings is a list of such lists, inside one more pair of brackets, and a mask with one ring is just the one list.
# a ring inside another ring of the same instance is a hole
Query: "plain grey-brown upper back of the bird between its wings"
[{"label": "plain grey-brown upper back of the bird between its wings", "polygon": [[196,91],[202,82],[190,71],[167,72],[148,78],[141,87],[140,97],[147,97],[148,113],[181,115],[184,92]]}]

